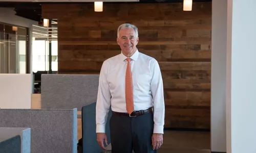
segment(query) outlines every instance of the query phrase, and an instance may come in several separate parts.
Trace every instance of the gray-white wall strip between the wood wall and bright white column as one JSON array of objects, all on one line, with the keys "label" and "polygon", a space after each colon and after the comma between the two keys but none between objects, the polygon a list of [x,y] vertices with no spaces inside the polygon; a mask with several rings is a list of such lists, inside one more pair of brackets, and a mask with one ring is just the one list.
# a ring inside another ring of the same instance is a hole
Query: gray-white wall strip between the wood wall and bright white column
[{"label": "gray-white wall strip between the wood wall and bright white column", "polygon": [[226,152],[227,1],[212,1],[211,151]]}]

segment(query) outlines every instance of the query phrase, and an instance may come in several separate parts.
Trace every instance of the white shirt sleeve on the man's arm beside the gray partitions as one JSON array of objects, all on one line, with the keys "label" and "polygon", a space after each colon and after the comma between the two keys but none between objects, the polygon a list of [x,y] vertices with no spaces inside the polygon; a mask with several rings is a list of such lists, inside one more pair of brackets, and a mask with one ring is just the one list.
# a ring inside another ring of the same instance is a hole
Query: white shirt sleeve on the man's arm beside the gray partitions
[{"label": "white shirt sleeve on the man's arm beside the gray partitions", "polygon": [[99,75],[99,87],[96,101],[96,133],[105,133],[106,119],[108,118],[111,93],[106,74],[108,70],[108,62],[104,61]]}]

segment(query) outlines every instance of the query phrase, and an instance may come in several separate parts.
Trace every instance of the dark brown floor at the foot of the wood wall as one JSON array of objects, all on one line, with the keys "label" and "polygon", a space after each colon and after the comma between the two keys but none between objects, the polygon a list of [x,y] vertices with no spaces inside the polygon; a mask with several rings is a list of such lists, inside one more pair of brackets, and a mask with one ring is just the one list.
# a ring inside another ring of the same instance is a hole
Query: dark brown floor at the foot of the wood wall
[{"label": "dark brown floor at the foot of the wood wall", "polygon": [[165,131],[158,153],[210,153],[210,132]]}]

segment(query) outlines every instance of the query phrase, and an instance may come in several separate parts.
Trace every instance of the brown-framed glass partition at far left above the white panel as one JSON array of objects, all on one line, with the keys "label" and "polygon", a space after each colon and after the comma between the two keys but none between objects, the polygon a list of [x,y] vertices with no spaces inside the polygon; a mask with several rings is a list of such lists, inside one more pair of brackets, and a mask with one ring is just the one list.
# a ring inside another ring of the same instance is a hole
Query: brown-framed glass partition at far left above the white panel
[{"label": "brown-framed glass partition at far left above the white panel", "polygon": [[0,73],[26,73],[28,28],[0,22]]}]

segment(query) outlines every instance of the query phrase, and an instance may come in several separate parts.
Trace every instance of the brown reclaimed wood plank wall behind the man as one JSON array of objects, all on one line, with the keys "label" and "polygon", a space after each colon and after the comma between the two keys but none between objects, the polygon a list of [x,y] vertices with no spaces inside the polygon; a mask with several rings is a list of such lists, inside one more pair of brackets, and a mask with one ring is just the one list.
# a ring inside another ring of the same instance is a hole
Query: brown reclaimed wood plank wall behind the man
[{"label": "brown reclaimed wood plank wall behind the man", "polygon": [[59,73],[98,74],[102,62],[120,53],[117,28],[139,29],[138,49],[160,64],[165,127],[210,129],[211,3],[42,4],[42,18],[58,19]]}]

